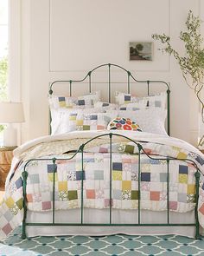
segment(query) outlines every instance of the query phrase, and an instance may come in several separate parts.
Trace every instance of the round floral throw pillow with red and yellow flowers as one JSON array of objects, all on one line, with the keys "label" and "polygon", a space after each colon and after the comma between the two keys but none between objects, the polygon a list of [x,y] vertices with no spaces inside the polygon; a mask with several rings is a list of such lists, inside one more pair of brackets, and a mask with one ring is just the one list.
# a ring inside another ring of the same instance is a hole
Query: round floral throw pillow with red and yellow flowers
[{"label": "round floral throw pillow with red and yellow flowers", "polygon": [[129,131],[139,131],[142,132],[142,129],[135,121],[131,121],[130,118],[117,117],[109,122],[108,130],[129,130]]}]

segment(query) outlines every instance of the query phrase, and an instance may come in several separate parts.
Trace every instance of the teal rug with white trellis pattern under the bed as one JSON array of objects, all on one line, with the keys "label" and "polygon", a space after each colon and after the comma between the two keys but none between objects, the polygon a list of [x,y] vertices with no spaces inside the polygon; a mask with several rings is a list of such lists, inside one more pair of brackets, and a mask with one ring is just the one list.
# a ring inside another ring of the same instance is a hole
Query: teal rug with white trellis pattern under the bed
[{"label": "teal rug with white trellis pattern under the bed", "polygon": [[0,243],[0,256],[62,255],[204,255],[204,238],[194,240],[177,235],[138,236],[109,235],[36,237],[22,240],[22,229]]}]

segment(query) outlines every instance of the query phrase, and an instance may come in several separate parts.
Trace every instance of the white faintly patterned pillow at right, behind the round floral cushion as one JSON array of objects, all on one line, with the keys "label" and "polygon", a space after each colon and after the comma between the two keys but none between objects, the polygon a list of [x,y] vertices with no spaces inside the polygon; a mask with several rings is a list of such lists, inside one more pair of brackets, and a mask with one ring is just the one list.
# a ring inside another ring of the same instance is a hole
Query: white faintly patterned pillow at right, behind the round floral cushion
[{"label": "white faintly patterned pillow at right, behind the round floral cushion", "polygon": [[124,118],[137,120],[143,132],[167,135],[165,120],[167,110],[162,108],[142,108],[136,111],[119,110],[118,115]]}]

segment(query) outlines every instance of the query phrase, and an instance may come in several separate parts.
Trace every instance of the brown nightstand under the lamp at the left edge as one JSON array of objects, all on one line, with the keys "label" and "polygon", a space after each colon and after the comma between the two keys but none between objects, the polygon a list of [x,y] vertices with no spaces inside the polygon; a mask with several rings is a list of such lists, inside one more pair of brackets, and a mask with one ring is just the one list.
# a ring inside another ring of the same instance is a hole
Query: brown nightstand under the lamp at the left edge
[{"label": "brown nightstand under the lamp at the left edge", "polygon": [[13,158],[13,150],[16,147],[0,147],[0,191],[4,190],[7,174]]}]

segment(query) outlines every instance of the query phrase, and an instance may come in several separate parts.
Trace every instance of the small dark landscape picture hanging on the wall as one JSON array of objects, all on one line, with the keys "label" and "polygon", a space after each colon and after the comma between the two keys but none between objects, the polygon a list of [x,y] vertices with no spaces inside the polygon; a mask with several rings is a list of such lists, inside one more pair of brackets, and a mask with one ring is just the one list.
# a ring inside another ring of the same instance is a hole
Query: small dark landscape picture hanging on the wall
[{"label": "small dark landscape picture hanging on the wall", "polygon": [[152,42],[131,42],[129,48],[130,61],[152,61]]}]

